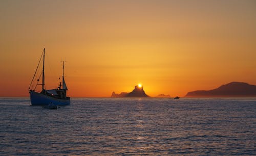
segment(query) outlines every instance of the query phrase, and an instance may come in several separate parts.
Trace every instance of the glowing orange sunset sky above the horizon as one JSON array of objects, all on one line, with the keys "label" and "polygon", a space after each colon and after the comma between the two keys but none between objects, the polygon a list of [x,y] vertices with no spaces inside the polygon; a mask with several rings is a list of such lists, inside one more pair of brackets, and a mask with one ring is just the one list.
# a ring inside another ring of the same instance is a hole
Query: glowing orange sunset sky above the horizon
[{"label": "glowing orange sunset sky above the horizon", "polygon": [[29,96],[44,47],[47,89],[66,60],[71,97],[256,85],[256,1],[2,0],[0,22],[0,96]]}]

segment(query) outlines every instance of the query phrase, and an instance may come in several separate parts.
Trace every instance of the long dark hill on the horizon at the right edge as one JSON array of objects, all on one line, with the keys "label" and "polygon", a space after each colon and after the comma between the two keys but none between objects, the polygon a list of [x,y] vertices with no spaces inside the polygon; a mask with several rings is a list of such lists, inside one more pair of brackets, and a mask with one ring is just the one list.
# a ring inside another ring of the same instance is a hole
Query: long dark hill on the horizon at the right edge
[{"label": "long dark hill on the horizon at the right edge", "polygon": [[188,92],[185,97],[252,97],[256,96],[256,86],[242,82],[231,82],[212,90]]}]

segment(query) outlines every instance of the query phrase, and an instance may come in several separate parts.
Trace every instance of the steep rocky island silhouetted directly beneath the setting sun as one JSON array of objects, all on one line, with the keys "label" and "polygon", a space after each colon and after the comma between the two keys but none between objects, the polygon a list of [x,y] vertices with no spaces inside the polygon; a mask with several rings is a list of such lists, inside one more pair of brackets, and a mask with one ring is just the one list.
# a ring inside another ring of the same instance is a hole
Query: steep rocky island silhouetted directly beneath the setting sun
[{"label": "steep rocky island silhouetted directly beneath the setting sun", "polygon": [[132,92],[122,92],[121,94],[116,94],[112,92],[111,97],[150,97],[143,90],[143,86],[139,87],[138,85],[134,87]]}]

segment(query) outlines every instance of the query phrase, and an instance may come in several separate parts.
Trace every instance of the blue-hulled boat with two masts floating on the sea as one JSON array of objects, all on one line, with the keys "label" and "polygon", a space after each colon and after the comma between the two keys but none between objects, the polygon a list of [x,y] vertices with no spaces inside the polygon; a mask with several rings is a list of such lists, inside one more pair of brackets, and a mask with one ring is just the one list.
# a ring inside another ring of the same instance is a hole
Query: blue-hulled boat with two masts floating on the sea
[{"label": "blue-hulled boat with two masts floating on the sea", "polygon": [[[40,92],[35,91],[36,86],[34,89],[32,89],[31,84],[34,81],[35,75],[37,73],[38,66],[41,62],[41,58],[43,56],[43,64],[42,64],[42,72],[40,76],[42,75],[42,81],[41,84],[39,83],[39,79],[37,79],[37,85],[41,85],[42,89]],[[29,86],[29,94],[30,94],[30,101],[32,106],[48,106],[49,103],[53,103],[53,105],[56,106],[63,106],[63,105],[70,105],[70,97],[67,96],[67,85],[64,80],[64,61],[63,61],[63,67],[62,67],[62,85],[61,82],[59,84],[59,87],[56,89],[46,90],[45,88],[45,48],[42,52],[40,61],[37,65],[35,74],[33,76],[33,79]],[[62,87],[61,87],[62,86]]]}]

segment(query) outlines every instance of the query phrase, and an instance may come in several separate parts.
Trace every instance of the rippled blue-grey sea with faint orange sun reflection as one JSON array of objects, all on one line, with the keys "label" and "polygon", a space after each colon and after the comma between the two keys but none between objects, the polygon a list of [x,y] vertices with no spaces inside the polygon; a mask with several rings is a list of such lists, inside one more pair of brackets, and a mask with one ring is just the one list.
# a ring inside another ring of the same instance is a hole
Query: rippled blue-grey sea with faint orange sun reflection
[{"label": "rippled blue-grey sea with faint orange sun reflection", "polygon": [[0,155],[256,155],[256,97],[0,98]]}]

